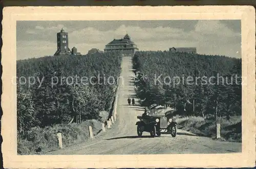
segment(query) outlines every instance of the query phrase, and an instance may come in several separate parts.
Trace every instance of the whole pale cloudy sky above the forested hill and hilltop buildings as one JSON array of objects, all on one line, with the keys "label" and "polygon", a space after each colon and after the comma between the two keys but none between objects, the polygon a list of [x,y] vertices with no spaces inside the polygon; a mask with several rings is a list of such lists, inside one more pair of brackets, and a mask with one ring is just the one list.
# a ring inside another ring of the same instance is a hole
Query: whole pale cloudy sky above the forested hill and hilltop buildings
[{"label": "whole pale cloudy sky above the forested hill and hilltop buildings", "polygon": [[17,21],[17,60],[52,56],[56,34],[69,33],[69,48],[81,54],[103,51],[113,39],[129,34],[139,51],[168,51],[170,47],[197,47],[197,53],[241,58],[240,20],[108,20]]}]

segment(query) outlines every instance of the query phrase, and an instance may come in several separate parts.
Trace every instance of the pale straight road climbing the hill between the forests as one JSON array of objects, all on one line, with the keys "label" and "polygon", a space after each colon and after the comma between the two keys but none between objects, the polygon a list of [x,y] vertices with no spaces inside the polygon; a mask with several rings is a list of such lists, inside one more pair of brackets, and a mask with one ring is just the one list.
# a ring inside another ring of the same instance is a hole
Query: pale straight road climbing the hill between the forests
[{"label": "pale straight road climbing the hill between the forests", "polygon": [[234,153],[241,152],[242,144],[224,142],[207,137],[195,136],[186,131],[178,130],[173,138],[169,134],[151,138],[149,133],[137,137],[137,115],[143,113],[143,108],[127,105],[127,98],[135,94],[132,82],[132,59],[123,57],[123,83],[119,84],[117,101],[117,120],[112,128],[99,133],[87,142],[54,151],[49,154],[201,154],[201,153]]}]

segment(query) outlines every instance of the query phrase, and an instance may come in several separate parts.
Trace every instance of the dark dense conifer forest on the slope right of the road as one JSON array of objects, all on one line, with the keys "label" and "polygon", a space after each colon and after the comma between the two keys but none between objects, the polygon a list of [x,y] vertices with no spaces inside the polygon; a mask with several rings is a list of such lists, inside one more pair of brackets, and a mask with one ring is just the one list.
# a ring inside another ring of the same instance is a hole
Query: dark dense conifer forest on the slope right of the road
[{"label": "dark dense conifer forest on the slope right of the road", "polygon": [[143,106],[169,105],[177,114],[242,114],[242,61],[225,56],[137,52],[135,85]]}]

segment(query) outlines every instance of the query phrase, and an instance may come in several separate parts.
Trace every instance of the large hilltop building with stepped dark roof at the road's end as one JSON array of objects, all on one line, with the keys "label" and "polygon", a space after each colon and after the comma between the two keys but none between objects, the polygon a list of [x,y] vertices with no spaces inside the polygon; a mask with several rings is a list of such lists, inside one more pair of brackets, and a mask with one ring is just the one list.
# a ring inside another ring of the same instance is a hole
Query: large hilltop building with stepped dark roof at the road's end
[{"label": "large hilltop building with stepped dark roof at the road's end", "polygon": [[131,41],[131,38],[126,34],[122,39],[114,39],[105,45],[104,52],[120,51],[123,56],[134,56],[138,51],[137,45]]}]

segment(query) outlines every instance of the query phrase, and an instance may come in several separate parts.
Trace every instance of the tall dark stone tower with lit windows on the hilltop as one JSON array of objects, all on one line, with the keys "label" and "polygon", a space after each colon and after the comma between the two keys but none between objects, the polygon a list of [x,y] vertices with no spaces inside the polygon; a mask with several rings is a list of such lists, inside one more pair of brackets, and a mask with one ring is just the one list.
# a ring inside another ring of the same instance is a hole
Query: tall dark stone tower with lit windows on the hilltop
[{"label": "tall dark stone tower with lit windows on the hilltop", "polygon": [[60,32],[57,33],[57,51],[55,52],[54,56],[70,54],[71,51],[69,49],[68,33],[61,29]]}]

